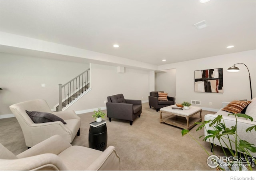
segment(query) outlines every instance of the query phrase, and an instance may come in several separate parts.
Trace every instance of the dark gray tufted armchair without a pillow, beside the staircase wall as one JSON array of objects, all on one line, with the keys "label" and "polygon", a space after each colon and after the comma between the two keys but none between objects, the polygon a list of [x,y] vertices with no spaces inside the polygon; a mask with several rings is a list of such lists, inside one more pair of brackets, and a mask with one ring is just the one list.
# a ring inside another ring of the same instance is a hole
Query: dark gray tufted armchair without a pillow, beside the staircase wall
[{"label": "dark gray tufted armchair without a pillow, beside the staircase wall", "polygon": [[132,126],[132,122],[140,117],[142,112],[141,100],[124,99],[123,94],[108,96],[107,116],[111,122],[111,118],[128,120]]}]

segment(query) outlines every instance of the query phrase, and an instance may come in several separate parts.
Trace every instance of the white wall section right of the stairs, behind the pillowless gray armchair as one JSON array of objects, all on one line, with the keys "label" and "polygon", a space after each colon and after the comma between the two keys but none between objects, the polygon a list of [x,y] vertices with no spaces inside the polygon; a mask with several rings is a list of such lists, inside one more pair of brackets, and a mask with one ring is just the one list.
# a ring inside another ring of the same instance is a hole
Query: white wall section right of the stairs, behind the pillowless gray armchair
[{"label": "white wall section right of the stairs, behind the pillowless gray armchair", "polygon": [[106,108],[104,101],[107,102],[107,97],[114,94],[124,94],[126,99],[148,101],[149,71],[125,68],[124,73],[118,73],[116,66],[100,64],[91,64],[90,71],[92,90],[68,110]]}]

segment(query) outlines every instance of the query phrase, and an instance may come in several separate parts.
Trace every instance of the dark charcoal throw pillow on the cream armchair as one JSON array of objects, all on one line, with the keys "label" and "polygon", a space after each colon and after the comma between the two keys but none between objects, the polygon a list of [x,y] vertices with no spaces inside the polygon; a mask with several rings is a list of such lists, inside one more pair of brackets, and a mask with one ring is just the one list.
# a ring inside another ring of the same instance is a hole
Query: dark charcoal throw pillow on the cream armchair
[{"label": "dark charcoal throw pillow on the cream armchair", "polygon": [[63,122],[63,124],[67,124],[62,118],[60,118],[52,113],[38,112],[38,111],[27,111],[27,110],[26,110],[26,113],[32,119],[32,121],[34,123],[61,121],[61,122]]}]

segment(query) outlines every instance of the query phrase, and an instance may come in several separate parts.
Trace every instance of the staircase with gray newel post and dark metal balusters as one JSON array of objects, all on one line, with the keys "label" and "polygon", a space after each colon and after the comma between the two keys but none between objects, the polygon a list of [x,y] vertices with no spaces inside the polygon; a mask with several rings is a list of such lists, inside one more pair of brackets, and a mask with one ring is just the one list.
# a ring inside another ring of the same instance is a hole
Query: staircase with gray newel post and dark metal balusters
[{"label": "staircase with gray newel post and dark metal balusters", "polygon": [[90,90],[90,69],[82,72],[66,84],[59,84],[59,105],[56,111],[62,111]]}]

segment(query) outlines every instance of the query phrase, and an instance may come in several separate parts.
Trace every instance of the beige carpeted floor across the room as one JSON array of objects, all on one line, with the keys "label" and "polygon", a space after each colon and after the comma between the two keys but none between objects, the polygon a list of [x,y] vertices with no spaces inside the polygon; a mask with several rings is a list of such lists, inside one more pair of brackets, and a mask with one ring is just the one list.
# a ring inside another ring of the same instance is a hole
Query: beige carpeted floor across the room
[{"label": "beige carpeted floor across the room", "polygon": [[[106,112],[106,110],[105,110]],[[93,122],[93,112],[79,114],[81,117],[80,136],[72,142],[73,145],[88,147],[89,123]],[[214,112],[203,111],[205,114]],[[199,113],[196,114],[199,117]],[[107,119],[108,146],[116,148],[121,160],[121,170],[216,170],[206,164],[208,155],[188,135],[181,135],[181,128],[159,122],[160,112],[149,108],[148,103],[142,104],[140,118],[130,126],[128,121]],[[198,126],[198,125],[197,125]],[[204,134],[203,130],[196,132],[196,127],[190,130],[195,138]],[[210,152],[207,142],[199,142]],[[0,120],[0,143],[19,154],[27,149],[24,136],[16,118]],[[216,148],[218,151],[218,147]],[[220,150],[221,152],[221,150]]]}]

